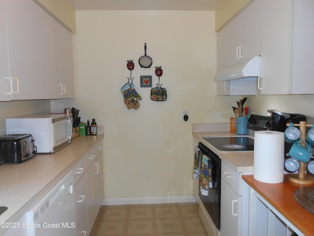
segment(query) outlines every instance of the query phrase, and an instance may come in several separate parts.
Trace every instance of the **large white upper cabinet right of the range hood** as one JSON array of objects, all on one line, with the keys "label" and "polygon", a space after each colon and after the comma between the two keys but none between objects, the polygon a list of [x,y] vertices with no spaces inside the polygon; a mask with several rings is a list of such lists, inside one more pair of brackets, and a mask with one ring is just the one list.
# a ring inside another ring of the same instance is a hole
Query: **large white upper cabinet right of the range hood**
[{"label": "large white upper cabinet right of the range hood", "polygon": [[313,94],[314,1],[259,1],[262,2],[260,93]]}]

